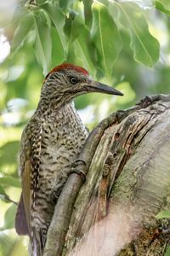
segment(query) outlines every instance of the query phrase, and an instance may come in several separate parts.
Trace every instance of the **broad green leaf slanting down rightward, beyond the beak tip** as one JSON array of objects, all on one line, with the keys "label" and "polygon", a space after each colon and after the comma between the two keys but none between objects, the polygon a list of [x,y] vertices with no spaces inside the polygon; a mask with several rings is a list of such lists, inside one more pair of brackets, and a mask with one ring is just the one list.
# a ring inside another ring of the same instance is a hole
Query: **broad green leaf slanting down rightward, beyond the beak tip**
[{"label": "broad green leaf slanting down rightward, beyond the beak tip", "polygon": [[114,2],[110,3],[110,10],[116,24],[130,35],[134,60],[153,67],[159,59],[160,45],[150,34],[139,6],[135,3]]}]

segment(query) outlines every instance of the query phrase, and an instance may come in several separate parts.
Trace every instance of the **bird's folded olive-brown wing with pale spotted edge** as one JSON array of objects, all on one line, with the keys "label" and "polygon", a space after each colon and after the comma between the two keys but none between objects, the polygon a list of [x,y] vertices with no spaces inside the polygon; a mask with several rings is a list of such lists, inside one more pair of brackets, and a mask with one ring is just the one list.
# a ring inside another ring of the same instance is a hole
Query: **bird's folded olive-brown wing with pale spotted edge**
[{"label": "bird's folded olive-brown wing with pale spotted edge", "polygon": [[21,183],[22,193],[15,218],[15,229],[19,235],[30,234],[31,209],[37,191],[39,157],[41,154],[42,126],[27,125],[21,143]]}]

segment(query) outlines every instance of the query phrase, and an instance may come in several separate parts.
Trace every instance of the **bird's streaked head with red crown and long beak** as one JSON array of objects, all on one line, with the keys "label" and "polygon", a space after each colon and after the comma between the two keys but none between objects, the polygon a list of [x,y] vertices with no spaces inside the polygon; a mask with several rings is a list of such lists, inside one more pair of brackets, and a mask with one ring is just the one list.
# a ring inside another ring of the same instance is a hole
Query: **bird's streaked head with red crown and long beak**
[{"label": "bird's streaked head with red crown and long beak", "polygon": [[76,96],[88,92],[123,95],[106,84],[94,81],[84,68],[65,63],[48,73],[42,85],[41,97],[48,96],[50,101],[68,103]]}]

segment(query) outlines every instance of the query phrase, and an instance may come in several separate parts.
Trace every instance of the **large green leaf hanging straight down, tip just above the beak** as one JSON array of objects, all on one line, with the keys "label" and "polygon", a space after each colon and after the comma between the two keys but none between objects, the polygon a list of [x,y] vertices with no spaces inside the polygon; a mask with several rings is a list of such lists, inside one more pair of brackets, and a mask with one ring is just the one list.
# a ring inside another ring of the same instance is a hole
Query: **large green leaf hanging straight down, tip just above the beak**
[{"label": "large green leaf hanging straight down, tip just above the beak", "polygon": [[122,40],[116,24],[104,4],[94,2],[92,14],[91,35],[98,50],[99,67],[109,78],[122,49]]}]

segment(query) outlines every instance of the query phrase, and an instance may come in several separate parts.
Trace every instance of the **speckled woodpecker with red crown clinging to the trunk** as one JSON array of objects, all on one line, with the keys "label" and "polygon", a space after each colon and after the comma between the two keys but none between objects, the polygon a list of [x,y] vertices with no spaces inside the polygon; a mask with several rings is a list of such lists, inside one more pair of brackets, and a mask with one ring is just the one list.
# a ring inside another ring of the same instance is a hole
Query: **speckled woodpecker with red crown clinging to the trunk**
[{"label": "speckled woodpecker with red crown clinging to the trunk", "polygon": [[90,92],[122,96],[122,92],[94,81],[82,67],[70,63],[54,67],[42,83],[37,109],[22,132],[22,190],[15,230],[30,237],[34,256],[42,256],[59,192],[88,137],[73,100]]}]

